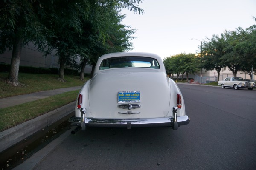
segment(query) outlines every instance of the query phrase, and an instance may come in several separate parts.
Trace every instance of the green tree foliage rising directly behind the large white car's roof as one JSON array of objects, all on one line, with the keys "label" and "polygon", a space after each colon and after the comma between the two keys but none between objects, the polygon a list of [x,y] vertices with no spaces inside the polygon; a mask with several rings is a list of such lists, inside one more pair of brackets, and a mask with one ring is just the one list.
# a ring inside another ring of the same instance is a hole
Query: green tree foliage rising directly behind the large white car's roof
[{"label": "green tree foliage rising directly behind the large white car's roof", "polygon": [[121,24],[125,16],[119,13],[122,6],[120,3],[122,1],[94,7],[90,13],[93,20],[85,21],[89,29],[83,32],[81,40],[77,39],[80,46],[84,47],[84,51],[79,52],[81,61],[87,58],[94,65],[103,54],[131,49],[132,44],[129,41],[135,38],[131,36],[135,30]]}]

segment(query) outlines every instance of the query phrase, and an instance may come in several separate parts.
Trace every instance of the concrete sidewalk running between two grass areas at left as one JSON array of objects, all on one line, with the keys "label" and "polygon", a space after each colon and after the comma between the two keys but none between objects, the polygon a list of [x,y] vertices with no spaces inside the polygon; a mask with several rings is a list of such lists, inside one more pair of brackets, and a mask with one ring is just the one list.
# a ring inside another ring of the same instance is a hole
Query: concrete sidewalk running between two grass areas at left
[{"label": "concrete sidewalk running between two grass areas at left", "polygon": [[61,94],[67,91],[74,91],[81,89],[82,86],[75,86],[70,88],[59,88],[55,90],[39,91],[31,94],[23,94],[18,96],[6,97],[0,99],[0,108],[7,108],[10,106],[20,105],[26,102],[32,102],[38,99],[44,99],[49,96]]}]

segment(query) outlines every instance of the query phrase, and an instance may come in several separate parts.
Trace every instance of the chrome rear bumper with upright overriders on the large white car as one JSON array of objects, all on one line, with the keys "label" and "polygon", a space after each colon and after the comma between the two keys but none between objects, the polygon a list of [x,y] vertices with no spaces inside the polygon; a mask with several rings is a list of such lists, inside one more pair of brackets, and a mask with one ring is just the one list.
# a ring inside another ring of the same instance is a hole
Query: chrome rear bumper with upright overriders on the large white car
[{"label": "chrome rear bumper with upright overriders on the large white car", "polygon": [[187,125],[190,122],[189,116],[177,117],[177,107],[173,107],[172,117],[147,118],[147,119],[98,119],[85,117],[85,108],[81,108],[81,117],[70,117],[69,122],[75,126],[81,126],[82,130],[86,127],[163,127],[171,126],[177,130],[181,125]]}]

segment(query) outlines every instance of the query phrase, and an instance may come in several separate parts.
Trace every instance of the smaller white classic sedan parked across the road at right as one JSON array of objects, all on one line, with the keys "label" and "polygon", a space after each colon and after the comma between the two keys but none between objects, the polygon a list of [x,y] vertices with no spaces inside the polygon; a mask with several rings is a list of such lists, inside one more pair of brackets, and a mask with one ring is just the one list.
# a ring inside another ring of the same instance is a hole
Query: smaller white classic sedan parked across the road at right
[{"label": "smaller white classic sedan parked across the road at right", "polygon": [[221,88],[229,87],[238,90],[239,88],[248,88],[248,90],[253,90],[255,88],[255,82],[245,81],[241,77],[227,77],[223,81],[218,81],[218,85]]}]

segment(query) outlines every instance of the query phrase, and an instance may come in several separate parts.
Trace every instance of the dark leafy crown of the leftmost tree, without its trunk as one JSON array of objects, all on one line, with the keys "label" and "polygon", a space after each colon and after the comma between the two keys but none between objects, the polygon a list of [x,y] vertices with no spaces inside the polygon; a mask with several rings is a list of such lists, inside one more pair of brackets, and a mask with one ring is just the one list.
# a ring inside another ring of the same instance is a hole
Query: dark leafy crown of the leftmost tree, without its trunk
[{"label": "dark leafy crown of the leftmost tree, without its trunk", "polygon": [[[6,48],[12,49],[17,37],[26,44],[38,36],[43,29],[38,13],[42,13],[37,0],[1,0],[0,1],[0,53]],[[40,35],[40,36],[39,36]]]}]

